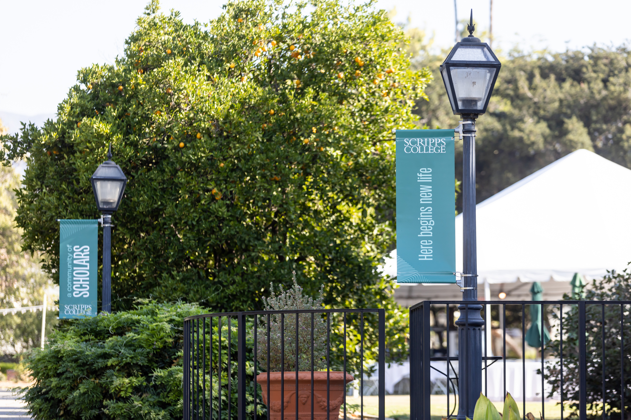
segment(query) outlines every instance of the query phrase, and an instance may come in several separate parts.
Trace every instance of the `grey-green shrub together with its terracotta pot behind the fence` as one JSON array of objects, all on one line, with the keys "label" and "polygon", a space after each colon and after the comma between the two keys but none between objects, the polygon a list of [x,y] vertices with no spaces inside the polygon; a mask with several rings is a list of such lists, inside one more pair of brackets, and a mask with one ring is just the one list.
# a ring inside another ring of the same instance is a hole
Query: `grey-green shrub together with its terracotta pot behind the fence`
[{"label": "grey-green shrub together with its terracotta pot behind the fence", "polygon": [[[322,309],[324,286],[320,288],[317,299],[304,296],[302,287],[296,282],[295,273],[293,286],[289,290],[284,291],[280,286],[280,294],[276,295],[274,286],[270,286],[271,296],[263,298],[265,310]],[[257,360],[261,369],[268,370],[259,374],[256,382],[261,385],[263,402],[269,408],[269,418],[280,420],[282,404],[283,415],[288,419],[295,419],[296,410],[300,420],[310,419],[312,414],[314,420],[326,420],[327,417],[337,419],[346,383],[354,378],[349,373],[345,375],[344,372],[326,371],[327,331],[322,315],[269,314],[269,326],[268,317],[263,316],[256,328]]]}]

